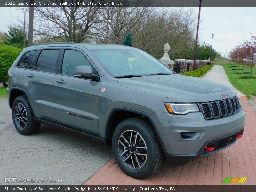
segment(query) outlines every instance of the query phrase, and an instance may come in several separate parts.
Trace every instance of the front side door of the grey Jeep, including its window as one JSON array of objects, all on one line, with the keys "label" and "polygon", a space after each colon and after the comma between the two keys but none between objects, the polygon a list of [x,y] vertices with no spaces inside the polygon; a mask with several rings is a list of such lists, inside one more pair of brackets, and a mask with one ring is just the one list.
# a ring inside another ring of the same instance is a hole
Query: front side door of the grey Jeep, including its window
[{"label": "front side door of the grey Jeep, including its window", "polygon": [[63,48],[60,67],[54,79],[55,118],[57,123],[98,134],[100,81],[74,77],[76,66],[95,70],[84,52]]}]

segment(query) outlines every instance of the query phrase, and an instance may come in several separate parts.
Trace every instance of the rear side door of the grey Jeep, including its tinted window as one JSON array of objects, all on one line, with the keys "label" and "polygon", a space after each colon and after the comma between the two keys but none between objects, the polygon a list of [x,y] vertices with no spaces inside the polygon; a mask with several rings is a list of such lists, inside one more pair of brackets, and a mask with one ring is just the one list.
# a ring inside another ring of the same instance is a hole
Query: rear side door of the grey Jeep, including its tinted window
[{"label": "rear side door of the grey Jeep, including its tinted window", "polygon": [[54,77],[57,72],[61,47],[46,47],[39,51],[35,70],[29,70],[28,92],[30,103],[36,117],[53,121],[54,115]]}]

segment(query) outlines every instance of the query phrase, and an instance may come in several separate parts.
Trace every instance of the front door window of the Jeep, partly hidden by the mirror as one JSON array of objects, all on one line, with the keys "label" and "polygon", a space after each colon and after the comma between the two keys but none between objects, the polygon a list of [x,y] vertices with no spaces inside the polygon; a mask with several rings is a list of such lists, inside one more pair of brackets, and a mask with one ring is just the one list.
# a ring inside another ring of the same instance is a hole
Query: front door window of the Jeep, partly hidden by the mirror
[{"label": "front door window of the Jeep, partly hidden by the mirror", "polygon": [[91,66],[89,61],[81,52],[66,49],[62,61],[61,74],[73,76],[75,67],[80,65]]}]

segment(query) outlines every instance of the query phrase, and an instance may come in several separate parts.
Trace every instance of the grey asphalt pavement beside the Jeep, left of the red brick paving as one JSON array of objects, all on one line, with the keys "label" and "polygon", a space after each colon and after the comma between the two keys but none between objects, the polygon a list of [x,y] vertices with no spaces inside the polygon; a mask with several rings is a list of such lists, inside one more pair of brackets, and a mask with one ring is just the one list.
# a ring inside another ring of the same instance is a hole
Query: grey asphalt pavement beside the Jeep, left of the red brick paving
[{"label": "grey asphalt pavement beside the Jeep, left of the red brick paving", "polygon": [[0,98],[0,185],[81,185],[112,157],[111,146],[50,126],[19,134],[7,99]]}]

